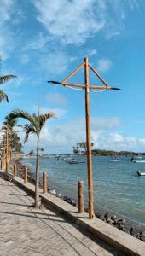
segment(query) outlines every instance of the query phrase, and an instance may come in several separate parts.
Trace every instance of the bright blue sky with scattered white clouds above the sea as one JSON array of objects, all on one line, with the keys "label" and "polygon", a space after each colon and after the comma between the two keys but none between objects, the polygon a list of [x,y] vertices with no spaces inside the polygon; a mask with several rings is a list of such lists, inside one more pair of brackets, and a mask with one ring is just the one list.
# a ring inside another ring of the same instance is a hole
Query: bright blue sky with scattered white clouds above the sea
[{"label": "bright blue sky with scattered white clouds above the sea", "polygon": [[[44,152],[71,152],[85,141],[84,91],[46,81],[65,79],[88,56],[122,89],[90,93],[94,148],[145,152],[144,12],[143,0],[0,0],[0,72],[18,77],[1,85],[9,95],[1,123],[14,108],[34,113],[40,105],[57,116],[42,131]],[[73,81],[84,83],[83,70]],[[90,73],[90,84],[98,83]],[[25,150],[35,141],[30,137]]]}]

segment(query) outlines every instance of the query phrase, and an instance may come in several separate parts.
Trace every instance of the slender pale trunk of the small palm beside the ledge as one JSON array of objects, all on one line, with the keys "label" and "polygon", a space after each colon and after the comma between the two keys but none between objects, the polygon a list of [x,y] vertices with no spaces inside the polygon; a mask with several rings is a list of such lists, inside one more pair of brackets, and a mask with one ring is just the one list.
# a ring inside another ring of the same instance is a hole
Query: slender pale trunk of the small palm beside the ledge
[{"label": "slender pale trunk of the small palm beside the ledge", "polygon": [[36,158],[36,184],[35,184],[35,203],[34,207],[39,208],[40,207],[40,200],[39,200],[39,186],[38,186],[38,174],[39,174],[39,162],[38,162],[38,157],[39,157],[39,133],[38,133],[38,142],[37,142],[37,158]]}]

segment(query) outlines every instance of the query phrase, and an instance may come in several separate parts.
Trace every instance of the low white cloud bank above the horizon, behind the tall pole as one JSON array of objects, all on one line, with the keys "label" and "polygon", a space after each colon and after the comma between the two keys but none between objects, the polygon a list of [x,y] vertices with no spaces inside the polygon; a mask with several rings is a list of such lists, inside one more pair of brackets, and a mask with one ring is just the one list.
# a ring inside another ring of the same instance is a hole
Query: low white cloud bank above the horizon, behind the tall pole
[{"label": "low white cloud bank above the horizon, behind the tall pole", "polygon": [[[47,112],[46,109],[43,109]],[[55,109],[52,109],[55,112]],[[111,124],[111,125],[110,125]],[[144,152],[145,138],[125,136],[117,132],[120,120],[112,118],[91,119],[91,142],[93,148]],[[24,138],[24,134],[20,137]],[[60,125],[59,119],[49,119],[41,133],[41,147],[45,152],[73,152],[77,142],[85,141],[85,119],[73,119]],[[32,146],[33,145],[33,146]],[[36,147],[36,137],[31,136],[25,148]],[[27,149],[28,150],[28,149]]]}]

